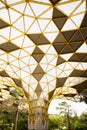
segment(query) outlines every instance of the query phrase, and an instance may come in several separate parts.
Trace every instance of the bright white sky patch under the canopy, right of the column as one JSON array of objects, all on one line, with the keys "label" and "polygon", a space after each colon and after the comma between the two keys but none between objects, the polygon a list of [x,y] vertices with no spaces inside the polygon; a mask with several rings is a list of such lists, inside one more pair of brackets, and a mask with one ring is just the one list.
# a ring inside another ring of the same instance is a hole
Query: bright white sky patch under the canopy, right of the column
[{"label": "bright white sky patch under the canopy, right of the column", "polygon": [[81,115],[81,113],[87,111],[87,104],[84,102],[73,102],[69,100],[61,100],[61,99],[54,99],[50,103],[48,113],[49,114],[58,114],[58,110],[56,110],[56,107],[58,107],[58,104],[62,101],[66,101],[69,105],[71,105],[71,109],[77,113],[78,116]]}]

